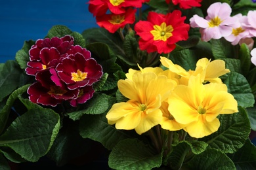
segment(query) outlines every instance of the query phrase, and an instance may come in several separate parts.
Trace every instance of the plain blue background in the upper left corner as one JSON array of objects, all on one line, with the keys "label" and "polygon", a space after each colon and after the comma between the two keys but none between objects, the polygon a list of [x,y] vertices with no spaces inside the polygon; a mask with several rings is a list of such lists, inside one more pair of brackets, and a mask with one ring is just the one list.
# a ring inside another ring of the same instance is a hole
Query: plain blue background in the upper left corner
[{"label": "plain blue background in the upper left corner", "polygon": [[53,25],[82,33],[98,27],[89,0],[0,1],[0,63],[14,59],[24,41],[43,39]]}]

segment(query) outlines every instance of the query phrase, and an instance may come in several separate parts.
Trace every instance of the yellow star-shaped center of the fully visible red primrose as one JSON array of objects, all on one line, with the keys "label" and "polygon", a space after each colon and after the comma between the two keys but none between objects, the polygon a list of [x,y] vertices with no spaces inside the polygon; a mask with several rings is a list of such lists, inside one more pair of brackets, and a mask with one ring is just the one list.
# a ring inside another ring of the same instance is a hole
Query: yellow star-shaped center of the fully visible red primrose
[{"label": "yellow star-shaped center of the fully visible red primrose", "polygon": [[150,33],[152,33],[154,36],[154,41],[167,41],[169,37],[173,36],[172,32],[173,26],[167,26],[165,22],[163,22],[161,25],[154,25],[154,30],[150,31]]}]

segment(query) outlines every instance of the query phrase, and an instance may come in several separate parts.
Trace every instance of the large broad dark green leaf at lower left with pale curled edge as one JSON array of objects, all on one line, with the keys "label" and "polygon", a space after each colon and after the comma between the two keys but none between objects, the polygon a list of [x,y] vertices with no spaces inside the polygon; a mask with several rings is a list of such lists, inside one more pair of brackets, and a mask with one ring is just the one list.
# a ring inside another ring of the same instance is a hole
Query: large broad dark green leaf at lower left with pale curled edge
[{"label": "large broad dark green leaf at lower left with pale curled edge", "polygon": [[60,117],[53,110],[28,110],[0,136],[0,146],[9,146],[22,158],[35,162],[47,154],[59,128]]}]

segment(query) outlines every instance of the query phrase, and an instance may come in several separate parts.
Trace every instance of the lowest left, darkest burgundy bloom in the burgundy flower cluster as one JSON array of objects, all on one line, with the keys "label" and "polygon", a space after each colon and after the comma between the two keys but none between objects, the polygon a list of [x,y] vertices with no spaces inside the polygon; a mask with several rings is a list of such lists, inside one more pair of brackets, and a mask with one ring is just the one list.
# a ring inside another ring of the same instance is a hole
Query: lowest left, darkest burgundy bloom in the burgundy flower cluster
[{"label": "lowest left, darkest burgundy bloom in the burgundy flower cluster", "polygon": [[[54,71],[54,69],[51,70]],[[30,101],[55,107],[64,100],[74,99],[78,96],[79,90],[69,90],[64,82],[56,85],[51,80],[51,76],[49,69],[36,74],[35,79],[37,82],[28,88]],[[61,81],[59,80],[58,82]]]}]

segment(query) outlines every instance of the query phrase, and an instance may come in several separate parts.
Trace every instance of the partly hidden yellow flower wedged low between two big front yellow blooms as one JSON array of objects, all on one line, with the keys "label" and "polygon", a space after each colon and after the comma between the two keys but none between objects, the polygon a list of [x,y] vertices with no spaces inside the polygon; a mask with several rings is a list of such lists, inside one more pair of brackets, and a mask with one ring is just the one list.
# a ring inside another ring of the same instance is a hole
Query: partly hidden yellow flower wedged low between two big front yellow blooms
[{"label": "partly hidden yellow flower wedged low between two big front yellow blooms", "polygon": [[173,115],[168,110],[169,104],[167,101],[163,101],[161,104],[161,112],[163,113],[163,118],[160,122],[161,128],[162,129],[167,129],[169,131],[177,131],[185,127],[186,125],[184,124],[179,124],[174,118]]}]

